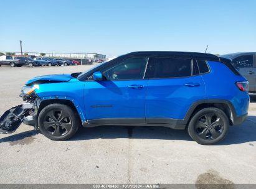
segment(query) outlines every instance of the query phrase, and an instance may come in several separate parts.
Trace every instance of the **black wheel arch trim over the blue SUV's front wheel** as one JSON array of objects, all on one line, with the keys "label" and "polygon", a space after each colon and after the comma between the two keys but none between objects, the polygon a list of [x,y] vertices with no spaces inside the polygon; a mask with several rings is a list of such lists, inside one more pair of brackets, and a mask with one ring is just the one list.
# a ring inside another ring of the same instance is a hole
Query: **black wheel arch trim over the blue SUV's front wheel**
[{"label": "black wheel arch trim over the blue SUV's front wheel", "polygon": [[65,104],[65,105],[69,106],[75,112],[75,115],[77,116],[77,118],[79,118],[80,123],[82,124],[82,121],[77,112],[77,109],[75,108],[74,104],[68,99],[47,99],[47,100],[42,101],[40,103],[37,115],[39,115],[40,111],[42,111],[42,109],[44,109],[45,106],[48,106],[49,104]]}]

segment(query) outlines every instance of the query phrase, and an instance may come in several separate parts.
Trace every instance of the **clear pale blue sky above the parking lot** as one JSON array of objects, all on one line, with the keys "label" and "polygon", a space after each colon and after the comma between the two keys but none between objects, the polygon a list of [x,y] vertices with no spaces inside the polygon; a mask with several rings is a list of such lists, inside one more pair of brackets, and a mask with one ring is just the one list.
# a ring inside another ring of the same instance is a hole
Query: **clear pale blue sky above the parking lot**
[{"label": "clear pale blue sky above the parking lot", "polygon": [[256,51],[255,0],[1,1],[0,52]]}]

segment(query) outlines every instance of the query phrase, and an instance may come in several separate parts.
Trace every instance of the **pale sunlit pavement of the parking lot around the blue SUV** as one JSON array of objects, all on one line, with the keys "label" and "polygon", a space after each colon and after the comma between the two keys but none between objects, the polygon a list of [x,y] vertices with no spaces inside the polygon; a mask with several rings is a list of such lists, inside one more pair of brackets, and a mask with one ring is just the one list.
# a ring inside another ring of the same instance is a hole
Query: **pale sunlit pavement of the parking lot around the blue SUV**
[{"label": "pale sunlit pavement of the parking lot around the blue SUV", "polygon": [[[22,103],[33,76],[90,67],[0,67],[0,114]],[[81,128],[57,142],[22,124],[0,134],[0,157],[0,183],[256,183],[256,97],[219,145],[199,145],[186,131],[123,126]]]}]

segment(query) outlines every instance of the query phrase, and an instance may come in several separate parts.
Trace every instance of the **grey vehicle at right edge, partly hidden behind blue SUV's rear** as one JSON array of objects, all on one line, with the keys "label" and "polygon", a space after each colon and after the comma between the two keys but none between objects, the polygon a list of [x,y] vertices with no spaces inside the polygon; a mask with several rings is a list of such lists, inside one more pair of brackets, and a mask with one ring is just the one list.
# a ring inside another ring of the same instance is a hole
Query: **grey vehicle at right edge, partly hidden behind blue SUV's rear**
[{"label": "grey vehicle at right edge, partly hidden behind blue SUV's rear", "polygon": [[232,65],[249,81],[249,93],[256,93],[256,52],[230,53],[220,57],[229,58]]}]

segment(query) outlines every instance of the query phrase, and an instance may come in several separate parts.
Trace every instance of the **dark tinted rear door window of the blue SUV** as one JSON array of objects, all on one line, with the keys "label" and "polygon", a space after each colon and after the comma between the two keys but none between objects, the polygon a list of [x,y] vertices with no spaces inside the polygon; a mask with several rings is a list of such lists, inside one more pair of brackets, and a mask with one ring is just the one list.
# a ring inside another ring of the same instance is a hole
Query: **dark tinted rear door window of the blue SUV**
[{"label": "dark tinted rear door window of the blue SUV", "polygon": [[191,75],[191,59],[155,58],[153,78],[178,78]]}]

